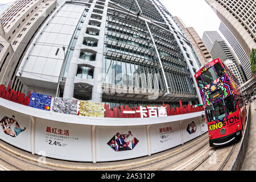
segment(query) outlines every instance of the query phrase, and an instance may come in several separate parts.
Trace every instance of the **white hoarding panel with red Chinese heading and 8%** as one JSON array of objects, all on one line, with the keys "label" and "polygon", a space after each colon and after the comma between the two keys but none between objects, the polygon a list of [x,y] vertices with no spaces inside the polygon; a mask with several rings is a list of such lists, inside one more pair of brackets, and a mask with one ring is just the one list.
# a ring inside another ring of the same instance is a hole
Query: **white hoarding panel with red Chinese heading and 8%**
[{"label": "white hoarding panel with red Chinese heading and 8%", "polygon": [[181,144],[179,122],[150,126],[151,154]]}]

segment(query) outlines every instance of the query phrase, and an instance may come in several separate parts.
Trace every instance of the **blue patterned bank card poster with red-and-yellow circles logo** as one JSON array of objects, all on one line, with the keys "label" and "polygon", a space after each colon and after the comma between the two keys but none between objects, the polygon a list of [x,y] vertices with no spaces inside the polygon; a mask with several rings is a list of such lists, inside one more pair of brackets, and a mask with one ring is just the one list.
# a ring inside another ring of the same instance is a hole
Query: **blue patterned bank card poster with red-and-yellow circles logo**
[{"label": "blue patterned bank card poster with red-and-yellow circles logo", "polygon": [[28,106],[49,111],[51,108],[51,101],[52,96],[32,92]]}]

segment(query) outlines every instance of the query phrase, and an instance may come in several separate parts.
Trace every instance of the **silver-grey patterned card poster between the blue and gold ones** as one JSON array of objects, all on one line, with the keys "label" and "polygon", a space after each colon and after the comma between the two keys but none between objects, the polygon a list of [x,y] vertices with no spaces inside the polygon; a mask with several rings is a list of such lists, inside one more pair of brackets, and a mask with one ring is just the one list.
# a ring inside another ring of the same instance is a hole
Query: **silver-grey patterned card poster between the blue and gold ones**
[{"label": "silver-grey patterned card poster between the blue and gold ones", "polygon": [[54,97],[52,100],[51,111],[56,113],[77,115],[77,100],[62,97]]}]

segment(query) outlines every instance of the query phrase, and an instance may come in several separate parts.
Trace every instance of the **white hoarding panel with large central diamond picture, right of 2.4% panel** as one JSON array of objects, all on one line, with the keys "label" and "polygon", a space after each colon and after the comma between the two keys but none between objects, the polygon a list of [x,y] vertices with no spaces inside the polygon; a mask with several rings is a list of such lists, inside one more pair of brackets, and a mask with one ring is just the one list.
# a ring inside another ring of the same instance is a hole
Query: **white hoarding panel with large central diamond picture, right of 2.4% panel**
[{"label": "white hoarding panel with large central diamond picture, right of 2.4% panel", "polygon": [[148,155],[146,126],[96,126],[97,162]]}]

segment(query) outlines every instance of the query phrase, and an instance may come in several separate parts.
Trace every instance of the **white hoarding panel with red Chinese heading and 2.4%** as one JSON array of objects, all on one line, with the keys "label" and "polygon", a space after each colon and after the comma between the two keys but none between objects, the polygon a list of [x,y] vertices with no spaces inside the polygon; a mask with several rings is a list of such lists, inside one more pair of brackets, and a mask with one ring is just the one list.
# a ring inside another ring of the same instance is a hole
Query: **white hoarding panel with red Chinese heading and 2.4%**
[{"label": "white hoarding panel with red Chinese heading and 2.4%", "polygon": [[36,118],[35,153],[55,159],[92,162],[92,126]]}]

